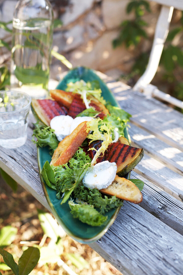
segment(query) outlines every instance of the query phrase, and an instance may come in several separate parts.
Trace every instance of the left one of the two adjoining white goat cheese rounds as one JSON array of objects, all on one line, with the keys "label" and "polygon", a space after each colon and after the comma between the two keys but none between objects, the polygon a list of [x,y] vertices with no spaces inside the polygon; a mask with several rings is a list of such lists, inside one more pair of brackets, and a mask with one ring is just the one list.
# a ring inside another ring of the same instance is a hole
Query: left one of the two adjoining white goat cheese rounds
[{"label": "left one of the two adjoining white goat cheese rounds", "polygon": [[62,141],[70,134],[71,123],[73,118],[70,116],[56,116],[50,121],[50,127],[55,130],[58,141]]}]

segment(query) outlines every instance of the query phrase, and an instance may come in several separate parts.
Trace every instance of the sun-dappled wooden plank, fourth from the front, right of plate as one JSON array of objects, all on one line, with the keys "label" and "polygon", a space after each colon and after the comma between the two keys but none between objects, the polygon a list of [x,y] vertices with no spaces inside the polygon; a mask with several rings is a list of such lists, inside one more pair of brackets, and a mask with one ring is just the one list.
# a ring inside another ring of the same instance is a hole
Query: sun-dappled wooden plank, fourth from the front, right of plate
[{"label": "sun-dappled wooden plank, fourth from the front, right of plate", "polygon": [[183,176],[183,153],[171,147],[156,136],[131,123],[129,134],[132,146],[143,148],[149,156],[164,163],[168,168]]}]

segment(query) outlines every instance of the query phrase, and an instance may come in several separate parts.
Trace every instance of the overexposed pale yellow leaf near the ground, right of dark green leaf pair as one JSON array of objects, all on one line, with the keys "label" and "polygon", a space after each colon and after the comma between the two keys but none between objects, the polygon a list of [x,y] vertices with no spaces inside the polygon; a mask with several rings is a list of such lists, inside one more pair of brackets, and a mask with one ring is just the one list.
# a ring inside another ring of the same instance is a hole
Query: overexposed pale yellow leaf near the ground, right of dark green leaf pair
[{"label": "overexposed pale yellow leaf near the ground, right of dark green leaf pair", "polygon": [[60,260],[56,250],[49,246],[43,246],[40,248],[39,264],[45,265],[46,263],[57,263]]}]

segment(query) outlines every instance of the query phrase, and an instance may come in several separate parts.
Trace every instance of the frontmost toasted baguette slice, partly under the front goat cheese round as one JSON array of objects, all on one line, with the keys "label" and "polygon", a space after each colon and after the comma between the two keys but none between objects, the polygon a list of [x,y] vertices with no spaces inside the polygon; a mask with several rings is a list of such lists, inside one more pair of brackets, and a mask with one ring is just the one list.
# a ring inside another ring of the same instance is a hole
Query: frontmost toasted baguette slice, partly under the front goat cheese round
[{"label": "frontmost toasted baguette slice, partly under the front goat cheese round", "polygon": [[142,193],[138,187],[130,180],[120,178],[117,175],[112,184],[107,188],[101,189],[100,192],[111,196],[116,195],[117,198],[128,200],[134,204],[139,204],[142,202]]}]

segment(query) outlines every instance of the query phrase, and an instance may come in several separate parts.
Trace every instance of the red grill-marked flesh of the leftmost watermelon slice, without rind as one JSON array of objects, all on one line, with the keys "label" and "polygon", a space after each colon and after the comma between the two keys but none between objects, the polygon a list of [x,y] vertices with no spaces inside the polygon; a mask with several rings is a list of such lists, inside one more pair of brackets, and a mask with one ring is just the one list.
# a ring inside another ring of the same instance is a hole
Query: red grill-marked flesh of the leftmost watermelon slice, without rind
[{"label": "red grill-marked flesh of the leftmost watermelon slice, without rind", "polygon": [[38,99],[38,103],[50,120],[56,116],[66,116],[68,113],[67,108],[59,104],[57,101],[51,99]]}]

